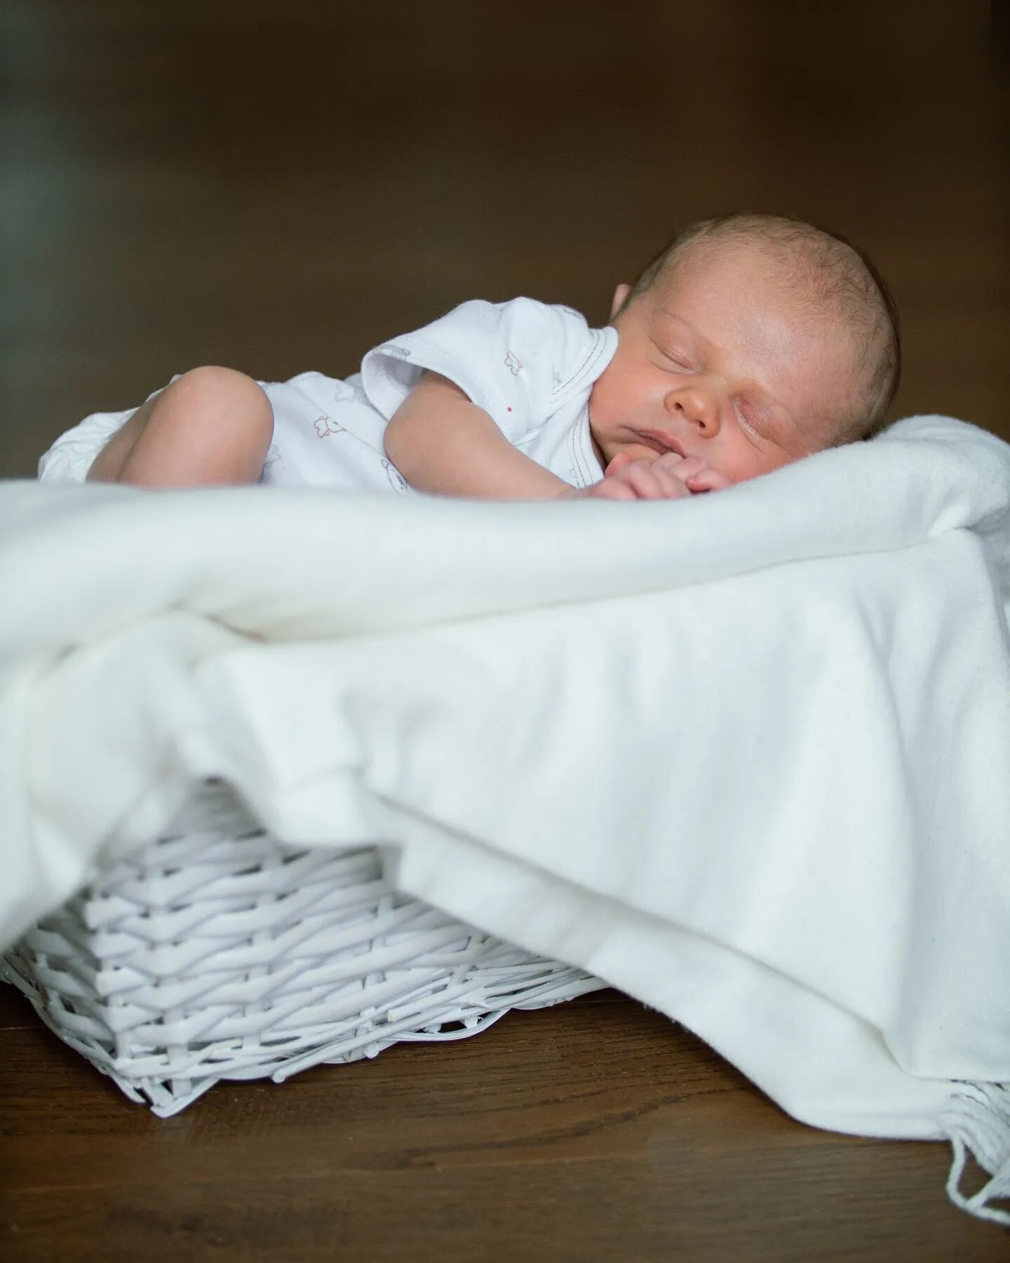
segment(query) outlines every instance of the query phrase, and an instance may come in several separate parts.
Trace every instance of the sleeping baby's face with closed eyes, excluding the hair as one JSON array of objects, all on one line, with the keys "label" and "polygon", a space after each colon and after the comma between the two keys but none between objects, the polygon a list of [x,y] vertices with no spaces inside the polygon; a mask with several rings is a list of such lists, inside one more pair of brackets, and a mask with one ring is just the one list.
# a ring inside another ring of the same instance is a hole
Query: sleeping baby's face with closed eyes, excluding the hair
[{"label": "sleeping baby's face with closed eyes, excluding the hair", "polygon": [[702,245],[611,318],[617,351],[592,388],[601,465],[617,452],[698,456],[742,482],[829,447],[856,389],[846,328],[811,320],[742,242]]}]

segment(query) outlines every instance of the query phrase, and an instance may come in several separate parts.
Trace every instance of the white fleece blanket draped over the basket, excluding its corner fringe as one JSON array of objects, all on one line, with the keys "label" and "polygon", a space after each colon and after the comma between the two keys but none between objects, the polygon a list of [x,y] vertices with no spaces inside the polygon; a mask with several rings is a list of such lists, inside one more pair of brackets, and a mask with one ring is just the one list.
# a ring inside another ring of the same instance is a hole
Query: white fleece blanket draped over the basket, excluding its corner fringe
[{"label": "white fleece blanket draped over the basket, excluding its corner fringe", "polygon": [[221,775],[808,1123],[936,1138],[1010,1080],[991,434],[631,505],[8,482],[0,594],[0,940]]}]

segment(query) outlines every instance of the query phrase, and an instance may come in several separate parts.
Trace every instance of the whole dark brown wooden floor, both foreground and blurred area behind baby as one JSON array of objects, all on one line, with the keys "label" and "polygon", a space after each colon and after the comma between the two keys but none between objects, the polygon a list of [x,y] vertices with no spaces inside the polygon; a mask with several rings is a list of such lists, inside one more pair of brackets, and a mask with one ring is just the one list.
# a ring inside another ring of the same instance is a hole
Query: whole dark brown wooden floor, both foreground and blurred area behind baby
[{"label": "whole dark brown wooden floor, both foreground and blurred area behind baby", "polygon": [[[0,0],[0,475],[201,362],[346,374],[471,297],[602,321],[737,207],[874,254],[899,413],[1010,437],[985,0]],[[11,1263],[1010,1257],[943,1147],[800,1127],[614,995],[168,1122],[0,1004]]]}]

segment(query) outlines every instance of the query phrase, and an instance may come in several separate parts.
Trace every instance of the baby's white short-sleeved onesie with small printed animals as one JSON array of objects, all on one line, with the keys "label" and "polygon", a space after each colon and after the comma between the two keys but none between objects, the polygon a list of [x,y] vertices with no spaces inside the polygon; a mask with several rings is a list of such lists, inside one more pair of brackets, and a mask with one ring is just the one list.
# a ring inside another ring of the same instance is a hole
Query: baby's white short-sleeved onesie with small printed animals
[{"label": "baby's white short-sleeved onesie with small printed animals", "polygon": [[[603,476],[590,440],[590,390],[616,349],[615,328],[591,330],[571,307],[532,298],[461,303],[369,351],[346,381],[322,373],[261,381],[274,409],[263,482],[409,493],[386,457],[384,432],[431,369],[454,381],[538,465],[572,486],[590,486]],[[39,477],[82,482],[135,410],[86,417],[42,457]]]}]

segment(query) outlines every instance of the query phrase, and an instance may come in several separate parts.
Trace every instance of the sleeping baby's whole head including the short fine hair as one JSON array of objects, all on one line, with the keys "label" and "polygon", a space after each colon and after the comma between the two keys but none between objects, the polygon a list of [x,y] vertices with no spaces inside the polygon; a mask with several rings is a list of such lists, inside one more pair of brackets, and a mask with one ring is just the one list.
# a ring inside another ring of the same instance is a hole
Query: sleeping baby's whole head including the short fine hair
[{"label": "sleeping baby's whole head including the short fine hair", "polygon": [[874,264],[802,220],[727,215],[619,285],[590,398],[601,464],[675,451],[731,482],[869,438],[898,390],[898,311]]}]

